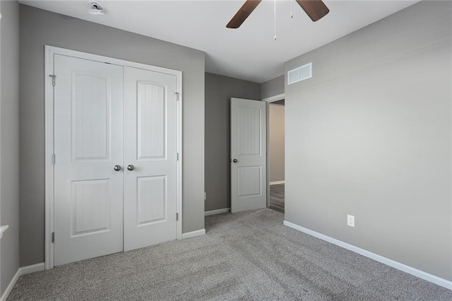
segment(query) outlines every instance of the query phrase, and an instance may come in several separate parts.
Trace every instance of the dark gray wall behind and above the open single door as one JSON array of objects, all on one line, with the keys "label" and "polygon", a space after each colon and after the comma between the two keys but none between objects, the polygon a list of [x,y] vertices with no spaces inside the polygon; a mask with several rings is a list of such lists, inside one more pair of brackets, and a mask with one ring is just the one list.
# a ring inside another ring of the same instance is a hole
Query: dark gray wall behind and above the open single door
[{"label": "dark gray wall behind and above the open single door", "polygon": [[231,98],[261,99],[261,85],[206,73],[206,211],[230,208]]}]

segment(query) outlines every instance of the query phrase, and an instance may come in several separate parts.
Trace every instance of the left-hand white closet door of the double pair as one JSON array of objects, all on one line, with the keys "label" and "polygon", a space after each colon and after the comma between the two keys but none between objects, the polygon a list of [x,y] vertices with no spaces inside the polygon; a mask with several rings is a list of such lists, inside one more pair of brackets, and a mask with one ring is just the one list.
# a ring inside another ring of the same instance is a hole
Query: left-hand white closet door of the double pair
[{"label": "left-hand white closet door of the double pair", "polygon": [[54,265],[123,250],[123,68],[55,55]]}]

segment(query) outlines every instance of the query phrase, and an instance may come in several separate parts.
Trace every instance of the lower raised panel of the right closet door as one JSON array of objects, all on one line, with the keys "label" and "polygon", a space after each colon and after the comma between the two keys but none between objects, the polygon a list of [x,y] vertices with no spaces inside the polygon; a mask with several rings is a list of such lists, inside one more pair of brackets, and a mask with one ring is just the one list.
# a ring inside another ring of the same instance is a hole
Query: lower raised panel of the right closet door
[{"label": "lower raised panel of the right closet door", "polygon": [[166,219],[167,177],[139,177],[137,225],[147,225]]}]

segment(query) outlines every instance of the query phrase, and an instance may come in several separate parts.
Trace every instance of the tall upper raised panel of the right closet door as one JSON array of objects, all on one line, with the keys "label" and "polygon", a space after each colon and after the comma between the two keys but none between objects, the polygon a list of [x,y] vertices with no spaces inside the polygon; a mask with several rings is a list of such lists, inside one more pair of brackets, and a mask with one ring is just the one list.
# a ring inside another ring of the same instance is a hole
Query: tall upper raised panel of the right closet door
[{"label": "tall upper raised panel of the right closet door", "polygon": [[163,159],[166,148],[165,88],[148,82],[138,82],[138,160]]}]

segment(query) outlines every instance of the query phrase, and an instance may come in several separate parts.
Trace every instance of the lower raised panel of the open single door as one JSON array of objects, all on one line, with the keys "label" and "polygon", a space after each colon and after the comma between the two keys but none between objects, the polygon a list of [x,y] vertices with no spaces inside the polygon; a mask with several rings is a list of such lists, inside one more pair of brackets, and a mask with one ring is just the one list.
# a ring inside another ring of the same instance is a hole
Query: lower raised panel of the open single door
[{"label": "lower raised panel of the open single door", "polygon": [[261,167],[237,167],[238,196],[258,196],[262,194]]}]

